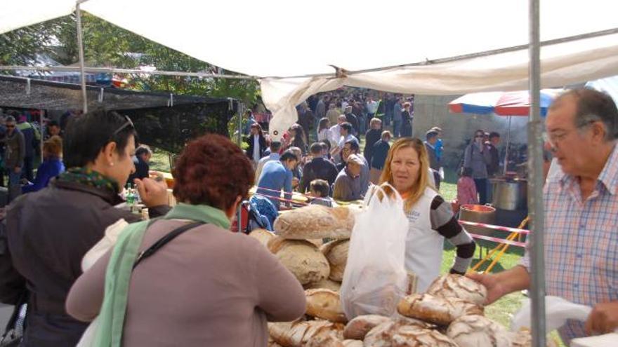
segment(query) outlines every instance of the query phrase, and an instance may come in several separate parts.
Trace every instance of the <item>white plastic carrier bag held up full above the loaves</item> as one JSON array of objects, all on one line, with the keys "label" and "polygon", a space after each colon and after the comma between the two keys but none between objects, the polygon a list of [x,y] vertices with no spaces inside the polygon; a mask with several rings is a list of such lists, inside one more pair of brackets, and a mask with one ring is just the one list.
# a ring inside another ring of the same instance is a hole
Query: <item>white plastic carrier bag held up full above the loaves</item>
[{"label": "white plastic carrier bag held up full above the loaves", "polygon": [[[390,197],[386,191],[392,191]],[[372,186],[356,216],[340,297],[348,319],[395,313],[408,285],[405,245],[408,219],[393,186]]]}]

